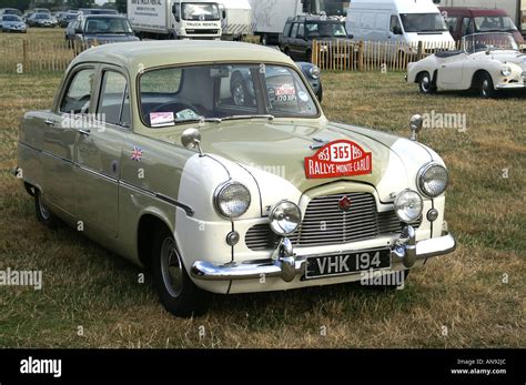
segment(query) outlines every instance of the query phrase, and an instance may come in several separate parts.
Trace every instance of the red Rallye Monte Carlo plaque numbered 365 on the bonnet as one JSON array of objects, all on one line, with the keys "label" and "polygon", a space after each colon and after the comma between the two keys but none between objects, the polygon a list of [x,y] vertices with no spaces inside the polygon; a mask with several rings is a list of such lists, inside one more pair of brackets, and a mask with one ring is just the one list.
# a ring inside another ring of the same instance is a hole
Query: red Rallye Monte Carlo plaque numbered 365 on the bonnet
[{"label": "red Rallye Monte Carlo plaque numbered 365 on the bonnet", "polygon": [[373,154],[350,140],[325,144],[313,156],[305,158],[307,179],[367,175],[373,172]]}]

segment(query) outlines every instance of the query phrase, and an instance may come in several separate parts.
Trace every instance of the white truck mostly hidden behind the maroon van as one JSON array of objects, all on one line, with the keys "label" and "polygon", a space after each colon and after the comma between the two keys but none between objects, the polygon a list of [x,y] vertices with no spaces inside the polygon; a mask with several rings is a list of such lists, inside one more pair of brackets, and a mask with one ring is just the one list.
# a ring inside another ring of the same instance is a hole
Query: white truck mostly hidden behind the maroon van
[{"label": "white truck mostly hidden behind the maroon van", "polygon": [[526,36],[526,0],[435,0],[441,7],[503,9]]}]

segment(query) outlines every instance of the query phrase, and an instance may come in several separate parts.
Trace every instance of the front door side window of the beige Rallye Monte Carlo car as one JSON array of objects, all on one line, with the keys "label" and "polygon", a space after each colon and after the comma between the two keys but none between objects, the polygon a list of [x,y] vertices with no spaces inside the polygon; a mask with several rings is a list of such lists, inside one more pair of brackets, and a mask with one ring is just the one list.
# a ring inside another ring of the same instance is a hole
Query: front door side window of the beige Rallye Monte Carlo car
[{"label": "front door side window of the beige Rallye Monte Carlo car", "polygon": [[114,71],[104,72],[97,113],[99,119],[117,125],[130,126],[130,102],[127,79]]}]

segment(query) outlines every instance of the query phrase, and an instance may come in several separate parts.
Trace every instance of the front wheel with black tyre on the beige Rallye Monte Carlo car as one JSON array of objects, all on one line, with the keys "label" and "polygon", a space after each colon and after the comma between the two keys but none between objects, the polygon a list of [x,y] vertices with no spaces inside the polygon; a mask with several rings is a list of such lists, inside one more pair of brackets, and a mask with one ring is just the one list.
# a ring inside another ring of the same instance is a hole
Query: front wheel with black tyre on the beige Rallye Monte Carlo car
[{"label": "front wheel with black tyre on the beige Rallye Monte Carlo car", "polygon": [[209,293],[189,277],[173,235],[163,230],[153,243],[153,281],[164,308],[179,317],[202,315],[206,311]]}]

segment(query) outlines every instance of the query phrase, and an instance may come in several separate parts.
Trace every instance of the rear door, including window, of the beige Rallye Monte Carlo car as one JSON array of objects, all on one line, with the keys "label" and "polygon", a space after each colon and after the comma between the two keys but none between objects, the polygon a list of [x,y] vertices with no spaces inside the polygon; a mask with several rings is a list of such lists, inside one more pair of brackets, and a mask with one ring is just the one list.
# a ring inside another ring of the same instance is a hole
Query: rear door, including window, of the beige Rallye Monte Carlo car
[{"label": "rear door, including window, of the beige Rallye Monte Carlo car", "polygon": [[74,145],[84,116],[91,112],[94,65],[81,65],[69,72],[54,111],[42,112],[38,124],[44,132],[42,193],[45,202],[70,217],[75,215]]}]

